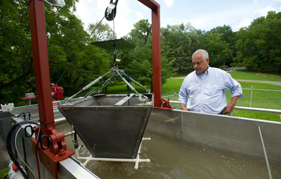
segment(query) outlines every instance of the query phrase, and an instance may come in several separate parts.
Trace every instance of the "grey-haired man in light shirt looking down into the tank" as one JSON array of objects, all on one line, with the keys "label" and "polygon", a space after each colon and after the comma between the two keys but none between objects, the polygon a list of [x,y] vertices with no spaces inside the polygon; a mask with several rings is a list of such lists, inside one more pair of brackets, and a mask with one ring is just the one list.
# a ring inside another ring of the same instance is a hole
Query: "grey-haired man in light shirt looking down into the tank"
[{"label": "grey-haired man in light shirt looking down into the tank", "polygon": [[[237,100],[243,97],[241,85],[225,71],[210,67],[205,50],[195,51],[192,63],[195,71],[185,77],[179,92],[181,109],[210,114],[231,113]],[[228,105],[224,89],[230,89]]]}]

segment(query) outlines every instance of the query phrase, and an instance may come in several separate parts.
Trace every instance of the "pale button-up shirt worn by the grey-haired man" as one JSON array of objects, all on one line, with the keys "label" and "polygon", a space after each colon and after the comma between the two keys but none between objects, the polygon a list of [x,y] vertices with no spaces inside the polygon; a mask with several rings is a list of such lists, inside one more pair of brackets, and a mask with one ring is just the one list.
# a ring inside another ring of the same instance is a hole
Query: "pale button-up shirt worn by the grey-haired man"
[{"label": "pale button-up shirt worn by the grey-haired man", "polygon": [[242,98],[241,85],[223,70],[208,66],[203,74],[195,71],[182,82],[179,99],[191,111],[219,114],[227,105],[224,89],[230,89],[231,98]]}]

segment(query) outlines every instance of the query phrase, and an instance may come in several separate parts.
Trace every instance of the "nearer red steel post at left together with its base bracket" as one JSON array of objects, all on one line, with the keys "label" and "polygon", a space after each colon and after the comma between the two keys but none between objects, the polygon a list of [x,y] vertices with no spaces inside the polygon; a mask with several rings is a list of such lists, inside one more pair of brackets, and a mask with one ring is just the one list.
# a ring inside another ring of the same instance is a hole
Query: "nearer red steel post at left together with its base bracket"
[{"label": "nearer red steel post at left together with its base bracket", "polygon": [[[54,111],[52,104],[51,82],[49,71],[48,47],[46,38],[46,24],[44,2],[31,0],[28,4],[33,53],[34,75],[40,118],[40,133],[48,135],[51,145],[48,149],[38,146],[41,163],[55,177],[58,178],[57,163],[69,158],[74,152],[66,147],[64,134],[55,130]],[[38,136],[38,127],[36,128]],[[47,146],[46,138],[42,141]],[[36,139],[32,139],[32,150],[35,153]],[[46,147],[45,147],[46,148]]]}]

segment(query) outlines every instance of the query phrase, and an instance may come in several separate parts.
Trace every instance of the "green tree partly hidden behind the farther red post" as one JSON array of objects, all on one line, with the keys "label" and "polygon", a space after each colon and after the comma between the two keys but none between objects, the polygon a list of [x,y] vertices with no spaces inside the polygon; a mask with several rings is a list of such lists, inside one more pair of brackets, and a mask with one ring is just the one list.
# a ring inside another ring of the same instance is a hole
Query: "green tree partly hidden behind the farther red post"
[{"label": "green tree partly hidden behind the farther red post", "polygon": [[[120,51],[118,54],[118,58],[121,59],[119,68],[140,84],[148,85],[153,89],[151,25],[147,19],[143,19],[139,20],[134,27],[124,38],[136,47],[132,50]],[[165,57],[161,56],[162,84],[174,73],[166,60]]]}]

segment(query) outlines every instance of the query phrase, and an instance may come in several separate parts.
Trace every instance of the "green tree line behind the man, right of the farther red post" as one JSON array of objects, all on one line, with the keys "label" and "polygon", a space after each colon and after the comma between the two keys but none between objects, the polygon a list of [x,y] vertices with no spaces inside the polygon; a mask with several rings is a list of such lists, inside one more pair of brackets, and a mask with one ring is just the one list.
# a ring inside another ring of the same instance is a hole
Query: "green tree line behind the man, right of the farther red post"
[{"label": "green tree line behind the man, right of the farther red post", "polygon": [[245,66],[249,71],[280,73],[281,12],[269,11],[266,17],[254,19],[249,27],[233,32],[229,26],[210,31],[188,25],[161,29],[162,57],[169,58],[178,73],[193,71],[191,56],[197,49],[209,53],[210,66],[226,69]]}]

